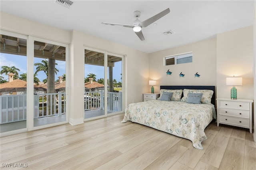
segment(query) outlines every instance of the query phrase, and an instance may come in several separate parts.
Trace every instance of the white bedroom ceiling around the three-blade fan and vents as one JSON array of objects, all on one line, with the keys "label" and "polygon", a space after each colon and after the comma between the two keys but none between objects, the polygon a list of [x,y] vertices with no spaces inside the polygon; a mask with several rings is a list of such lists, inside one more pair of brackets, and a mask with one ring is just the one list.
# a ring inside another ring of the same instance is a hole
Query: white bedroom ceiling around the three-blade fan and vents
[{"label": "white bedroom ceiling around the three-blade fan and vents", "polygon": [[[99,38],[151,53],[213,38],[216,34],[253,25],[254,0],[72,0],[65,8],[56,0],[0,0],[2,12],[63,30],[78,30]],[[132,25],[133,12],[144,21],[166,8],[170,13],[146,28],[141,41],[132,28],[101,22]],[[176,34],[164,35],[173,30]]]}]

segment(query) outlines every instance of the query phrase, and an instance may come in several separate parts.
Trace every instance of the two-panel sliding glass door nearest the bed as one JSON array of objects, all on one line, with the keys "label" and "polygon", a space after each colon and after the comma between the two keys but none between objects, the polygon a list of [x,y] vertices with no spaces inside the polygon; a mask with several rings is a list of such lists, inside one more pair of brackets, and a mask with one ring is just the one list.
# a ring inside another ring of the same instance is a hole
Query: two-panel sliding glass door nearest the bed
[{"label": "two-panel sliding glass door nearest the bed", "polygon": [[122,113],[123,55],[84,49],[84,119]]}]

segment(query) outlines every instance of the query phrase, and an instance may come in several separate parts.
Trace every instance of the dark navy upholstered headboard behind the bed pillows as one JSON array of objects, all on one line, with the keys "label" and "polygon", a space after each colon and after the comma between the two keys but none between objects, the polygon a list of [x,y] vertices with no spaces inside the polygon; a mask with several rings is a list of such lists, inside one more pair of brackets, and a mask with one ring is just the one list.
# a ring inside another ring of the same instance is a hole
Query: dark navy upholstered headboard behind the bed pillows
[{"label": "dark navy upholstered headboard behind the bed pillows", "polygon": [[[170,90],[177,90],[177,89],[196,89],[196,90],[212,90],[212,100],[211,103],[216,107],[216,94],[215,94],[215,86],[186,86],[186,85],[161,85],[160,89],[170,89]],[[182,96],[183,97],[183,93]]]}]

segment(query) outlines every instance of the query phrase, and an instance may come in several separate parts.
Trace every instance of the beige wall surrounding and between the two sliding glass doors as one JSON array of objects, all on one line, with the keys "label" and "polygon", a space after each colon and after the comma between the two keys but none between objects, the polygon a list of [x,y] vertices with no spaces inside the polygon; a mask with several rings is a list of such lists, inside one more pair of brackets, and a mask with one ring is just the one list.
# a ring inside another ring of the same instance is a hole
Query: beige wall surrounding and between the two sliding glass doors
[{"label": "beige wall surrounding and between the two sliding glass doors", "polygon": [[[0,29],[70,44],[70,123],[83,122],[84,45],[125,55],[124,108],[143,100],[148,87],[148,53],[109,42],[82,32],[68,32],[0,12]],[[78,74],[82,73],[82,74]],[[129,93],[128,93],[129,92]]]}]

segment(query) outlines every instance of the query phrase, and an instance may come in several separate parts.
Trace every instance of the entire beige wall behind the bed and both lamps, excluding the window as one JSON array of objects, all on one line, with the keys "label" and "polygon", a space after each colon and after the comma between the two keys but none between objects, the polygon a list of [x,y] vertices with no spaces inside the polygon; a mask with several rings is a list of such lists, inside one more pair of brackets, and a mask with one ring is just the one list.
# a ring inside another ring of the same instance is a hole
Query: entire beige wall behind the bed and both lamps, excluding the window
[{"label": "entire beige wall behind the bed and both lamps, excluding the window", "polygon": [[[164,66],[163,57],[193,52],[192,63]],[[253,26],[217,34],[216,38],[150,53],[149,79],[160,85],[215,85],[217,97],[230,97],[226,77],[241,76],[243,85],[236,86],[238,98],[254,99],[253,94]],[[170,69],[172,75],[166,75]],[[185,74],[179,77],[180,72]],[[200,78],[194,77],[198,72]],[[148,86],[148,92],[150,86]]]}]

